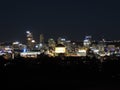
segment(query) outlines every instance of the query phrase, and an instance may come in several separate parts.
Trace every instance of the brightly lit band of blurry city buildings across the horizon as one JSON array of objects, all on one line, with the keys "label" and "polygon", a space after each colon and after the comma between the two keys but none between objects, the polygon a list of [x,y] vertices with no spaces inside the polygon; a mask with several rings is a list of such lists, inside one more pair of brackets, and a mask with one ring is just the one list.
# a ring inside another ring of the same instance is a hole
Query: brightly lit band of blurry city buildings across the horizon
[{"label": "brightly lit band of blurry city buildings across the horizon", "polygon": [[92,36],[85,36],[83,41],[75,42],[59,37],[57,40],[49,38],[44,41],[43,34],[40,34],[39,42],[33,38],[30,31],[26,32],[26,44],[12,42],[11,44],[0,44],[0,55],[4,58],[25,57],[37,58],[45,54],[50,57],[72,56],[72,57],[104,57],[120,56],[120,41],[92,40]]}]

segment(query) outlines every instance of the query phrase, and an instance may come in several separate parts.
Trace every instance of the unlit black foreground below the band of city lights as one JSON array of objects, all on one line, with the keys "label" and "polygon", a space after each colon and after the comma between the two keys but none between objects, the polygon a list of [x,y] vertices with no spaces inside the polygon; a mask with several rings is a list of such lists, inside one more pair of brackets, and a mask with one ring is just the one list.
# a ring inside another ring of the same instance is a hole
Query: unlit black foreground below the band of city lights
[{"label": "unlit black foreground below the band of city lights", "polygon": [[0,60],[3,88],[120,89],[120,59],[104,62],[75,57]]}]

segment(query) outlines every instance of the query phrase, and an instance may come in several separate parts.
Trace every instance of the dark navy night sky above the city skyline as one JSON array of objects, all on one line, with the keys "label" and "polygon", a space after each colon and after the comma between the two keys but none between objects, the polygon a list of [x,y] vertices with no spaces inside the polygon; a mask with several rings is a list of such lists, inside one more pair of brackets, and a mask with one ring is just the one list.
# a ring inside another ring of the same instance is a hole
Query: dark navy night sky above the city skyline
[{"label": "dark navy night sky above the city skyline", "polygon": [[46,39],[120,39],[120,5],[115,0],[0,1],[0,41],[24,41],[26,30],[37,40],[41,33]]}]

